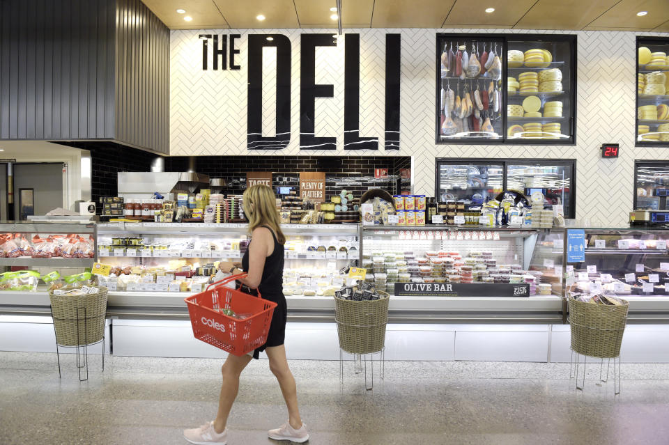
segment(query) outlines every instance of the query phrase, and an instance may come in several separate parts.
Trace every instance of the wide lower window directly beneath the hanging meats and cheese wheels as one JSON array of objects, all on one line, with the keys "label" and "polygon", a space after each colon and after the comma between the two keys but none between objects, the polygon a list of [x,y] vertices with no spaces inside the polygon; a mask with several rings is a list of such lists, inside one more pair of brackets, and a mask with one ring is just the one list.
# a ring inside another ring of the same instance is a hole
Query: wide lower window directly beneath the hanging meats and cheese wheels
[{"label": "wide lower window directly beneath the hanging meats and cheese wheels", "polygon": [[[669,165],[668,165],[669,171]],[[544,195],[544,208],[562,205],[565,218],[576,214],[576,159],[436,159],[435,196],[439,201],[481,205],[505,190]]]}]

